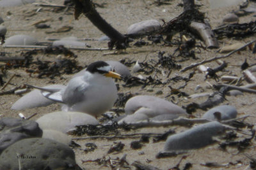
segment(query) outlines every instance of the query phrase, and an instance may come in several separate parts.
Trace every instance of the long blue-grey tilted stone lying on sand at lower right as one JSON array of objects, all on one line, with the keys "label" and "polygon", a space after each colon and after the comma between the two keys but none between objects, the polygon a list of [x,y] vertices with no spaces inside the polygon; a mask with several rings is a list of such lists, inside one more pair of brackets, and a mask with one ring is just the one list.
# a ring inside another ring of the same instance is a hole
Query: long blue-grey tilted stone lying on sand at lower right
[{"label": "long blue-grey tilted stone lying on sand at lower right", "polygon": [[169,136],[164,145],[164,151],[173,152],[202,148],[214,143],[212,137],[223,132],[225,132],[225,126],[219,122],[198,125],[187,131]]}]

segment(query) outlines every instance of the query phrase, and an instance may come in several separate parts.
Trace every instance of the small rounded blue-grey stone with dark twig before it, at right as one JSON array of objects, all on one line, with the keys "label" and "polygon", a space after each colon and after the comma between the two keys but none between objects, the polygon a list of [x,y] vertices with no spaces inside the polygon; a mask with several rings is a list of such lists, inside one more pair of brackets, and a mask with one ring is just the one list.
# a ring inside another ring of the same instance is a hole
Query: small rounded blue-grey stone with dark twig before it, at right
[{"label": "small rounded blue-grey stone with dark twig before it, at right", "polygon": [[207,120],[217,120],[214,117],[214,113],[216,112],[220,112],[221,120],[228,120],[236,118],[237,116],[237,110],[234,106],[223,105],[208,110],[206,113],[204,113],[204,116],[202,118],[205,118]]}]

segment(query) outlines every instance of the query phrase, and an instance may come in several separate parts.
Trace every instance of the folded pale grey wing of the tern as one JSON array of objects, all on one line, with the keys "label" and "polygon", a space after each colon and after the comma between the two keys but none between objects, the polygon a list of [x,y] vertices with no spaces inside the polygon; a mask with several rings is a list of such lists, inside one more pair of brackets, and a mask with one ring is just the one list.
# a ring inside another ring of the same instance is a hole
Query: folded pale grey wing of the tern
[{"label": "folded pale grey wing of the tern", "polygon": [[86,90],[90,85],[80,79],[70,80],[68,86],[62,94],[63,103],[72,106],[86,99]]}]

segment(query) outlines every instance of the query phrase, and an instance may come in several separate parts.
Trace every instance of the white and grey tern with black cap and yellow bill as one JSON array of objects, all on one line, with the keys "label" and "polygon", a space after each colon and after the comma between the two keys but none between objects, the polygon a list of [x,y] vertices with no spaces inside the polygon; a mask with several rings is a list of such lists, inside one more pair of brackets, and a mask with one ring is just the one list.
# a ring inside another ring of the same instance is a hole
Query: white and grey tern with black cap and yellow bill
[{"label": "white and grey tern with black cap and yellow bill", "polygon": [[42,95],[63,103],[64,111],[80,111],[95,117],[111,109],[117,99],[117,89],[112,78],[120,79],[120,74],[111,71],[111,66],[104,61],[90,64],[82,76],[68,81],[63,89],[45,89]]}]

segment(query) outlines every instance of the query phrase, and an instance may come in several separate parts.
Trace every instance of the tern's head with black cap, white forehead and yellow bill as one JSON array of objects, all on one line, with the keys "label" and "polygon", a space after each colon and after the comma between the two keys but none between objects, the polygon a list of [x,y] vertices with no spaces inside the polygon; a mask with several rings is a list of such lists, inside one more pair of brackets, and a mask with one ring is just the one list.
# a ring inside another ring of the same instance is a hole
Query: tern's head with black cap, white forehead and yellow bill
[{"label": "tern's head with black cap, white forehead and yellow bill", "polygon": [[86,71],[89,71],[92,74],[99,73],[106,77],[111,77],[111,78],[118,78],[118,79],[122,78],[120,74],[111,71],[111,66],[109,66],[109,64],[104,61],[93,62],[87,67]]}]

